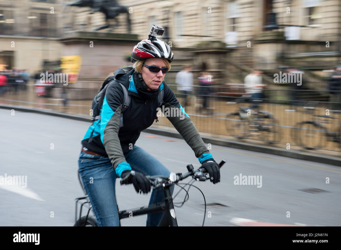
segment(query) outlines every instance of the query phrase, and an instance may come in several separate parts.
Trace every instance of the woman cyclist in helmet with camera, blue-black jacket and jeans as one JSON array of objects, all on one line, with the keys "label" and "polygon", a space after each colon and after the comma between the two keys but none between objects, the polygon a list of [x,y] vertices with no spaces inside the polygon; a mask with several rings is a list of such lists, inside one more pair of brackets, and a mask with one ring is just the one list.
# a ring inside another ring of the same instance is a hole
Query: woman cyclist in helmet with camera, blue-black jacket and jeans
[{"label": "woman cyclist in helmet with camera, blue-black jacket and jeans", "polygon": [[[153,27],[162,30],[162,27]],[[79,173],[98,226],[119,226],[116,178],[124,178],[135,171],[129,183],[137,192],[142,190],[147,194],[151,187],[146,175],[169,176],[170,171],[163,164],[135,145],[140,132],[150,127],[157,118],[159,107],[181,112],[179,116],[167,118],[192,148],[202,167],[209,173],[210,181],[214,184],[220,182],[218,163],[213,160],[173,91],[163,82],[172,61],[170,47],[151,33],[148,39],[134,46],[131,54],[133,69],[128,73],[121,68],[115,71],[115,79],[108,83],[106,89],[101,118],[93,122],[81,141]],[[124,90],[120,84],[128,89],[131,97],[123,120]],[[164,91],[161,105],[158,99],[160,91]],[[173,194],[174,185],[171,190]],[[163,201],[163,190],[154,189],[149,204]],[[148,214],[146,226],[157,226],[162,215],[163,212]]]}]

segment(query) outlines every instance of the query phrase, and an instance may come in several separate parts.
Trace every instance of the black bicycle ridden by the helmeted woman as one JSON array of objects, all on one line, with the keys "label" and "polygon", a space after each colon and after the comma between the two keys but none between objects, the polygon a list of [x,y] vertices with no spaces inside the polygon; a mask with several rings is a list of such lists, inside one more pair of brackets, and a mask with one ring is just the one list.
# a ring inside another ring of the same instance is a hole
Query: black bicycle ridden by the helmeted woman
[{"label": "black bicycle ridden by the helmeted woman", "polygon": [[[222,160],[220,163],[219,163],[219,168],[221,168],[224,163],[226,162],[226,160]],[[154,189],[158,189],[158,188],[162,188],[163,189],[163,193],[164,193],[164,197],[165,197],[165,201],[164,202],[158,202],[158,203],[155,203],[155,204],[151,204],[151,205],[147,205],[147,206],[143,206],[143,207],[139,207],[139,208],[136,208],[136,209],[129,209],[129,210],[121,210],[121,211],[118,211],[118,216],[119,216],[119,220],[123,219],[123,218],[128,218],[130,217],[131,215],[134,215],[134,216],[138,216],[138,215],[144,215],[144,214],[150,214],[150,213],[157,213],[157,212],[162,212],[164,211],[164,214],[160,220],[160,223],[158,224],[158,227],[164,227],[164,226],[170,226],[170,227],[177,227],[178,226],[178,222],[177,222],[177,219],[176,219],[176,215],[175,215],[175,209],[174,209],[174,203],[173,203],[173,199],[179,194],[179,192],[183,189],[186,191],[186,196],[184,198],[184,200],[180,203],[182,203],[180,205],[180,207],[184,204],[184,202],[186,202],[189,198],[188,196],[188,190],[191,186],[194,186],[192,183],[194,181],[206,181],[209,179],[209,177],[207,177],[207,173],[206,173],[206,170],[203,169],[203,168],[199,168],[199,169],[196,169],[194,170],[193,168],[193,165],[192,164],[189,164],[187,165],[187,170],[189,172],[187,173],[170,173],[169,174],[169,177],[166,177],[166,176],[146,176],[149,181],[150,181],[150,184],[151,186],[154,188]],[[120,180],[120,184],[123,185],[123,184],[127,184],[130,180],[130,178],[132,178],[134,175],[134,172],[132,171],[130,174],[128,174],[127,176],[125,176],[124,178],[122,178]],[[194,180],[191,180],[192,183],[190,183],[191,181],[189,181],[187,184],[185,183],[178,183],[179,181],[189,177],[189,176],[192,176],[192,179]],[[83,216],[81,217],[81,210],[84,206],[84,204],[90,204],[90,201],[89,201],[89,198],[88,198],[88,195],[86,194],[86,191],[84,189],[84,186],[83,186],[83,183],[81,182],[80,180],[80,174],[78,173],[78,180],[80,182],[80,185],[81,187],[83,188],[84,192],[85,192],[85,196],[83,197],[79,197],[79,198],[76,198],[75,201],[76,201],[76,212],[75,212],[75,224],[74,224],[74,227],[80,227],[80,226],[93,226],[93,227],[97,227],[98,224],[97,224],[97,221],[96,221],[96,218],[94,216],[89,216],[89,212],[90,210],[92,209],[91,205],[88,206],[88,212],[87,212],[87,215],[86,216]],[[173,184],[175,185],[179,185],[179,184],[182,184],[184,185],[183,187],[181,187],[181,189],[178,191],[178,193],[174,196],[174,198],[172,197],[172,194],[170,193],[170,186],[172,186]],[[189,188],[186,190],[184,187],[189,185]],[[194,186],[196,187],[196,186]],[[205,199],[205,196],[203,194],[203,192],[198,188],[196,187],[203,195],[204,197],[204,201],[205,201],[205,212],[204,214],[206,214],[206,199]],[[186,199],[187,197],[187,199]],[[80,201],[80,200],[86,200],[85,202],[83,202],[81,204],[81,208],[80,208],[80,213],[79,213],[79,219],[77,219],[77,203]],[[117,205],[117,209],[118,209],[118,205]],[[119,210],[119,209],[118,209]],[[204,226],[204,222],[205,222],[205,216],[204,216],[204,220],[203,220],[203,225]],[[121,226],[121,222],[119,223],[119,226]]]}]

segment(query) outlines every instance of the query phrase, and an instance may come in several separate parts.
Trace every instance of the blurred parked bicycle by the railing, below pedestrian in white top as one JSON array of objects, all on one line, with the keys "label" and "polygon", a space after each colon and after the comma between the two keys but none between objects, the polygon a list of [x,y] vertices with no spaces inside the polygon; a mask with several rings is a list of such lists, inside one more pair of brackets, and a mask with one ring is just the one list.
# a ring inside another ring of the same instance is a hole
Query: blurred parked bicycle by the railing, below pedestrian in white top
[{"label": "blurred parked bicycle by the railing, below pedestrian in white top", "polygon": [[[254,100],[262,101],[262,100]],[[245,98],[238,98],[235,102],[245,102]],[[225,118],[225,126],[229,135],[237,139],[249,139],[259,136],[261,140],[269,144],[276,143],[280,139],[280,128],[277,118],[270,112],[259,110],[259,105],[251,107],[238,107],[238,110],[228,113]]]}]

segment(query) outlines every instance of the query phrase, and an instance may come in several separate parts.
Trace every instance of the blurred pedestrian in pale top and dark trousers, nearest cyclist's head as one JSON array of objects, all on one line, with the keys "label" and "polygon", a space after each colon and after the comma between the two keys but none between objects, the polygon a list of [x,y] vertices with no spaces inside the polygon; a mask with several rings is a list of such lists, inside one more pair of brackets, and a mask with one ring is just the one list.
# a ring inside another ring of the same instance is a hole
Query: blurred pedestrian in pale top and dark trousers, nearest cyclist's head
[{"label": "blurred pedestrian in pale top and dark trousers, nearest cyclist's head", "polygon": [[184,106],[188,106],[188,96],[193,91],[193,73],[192,65],[185,65],[181,71],[176,74],[175,83],[178,84],[178,91],[184,98]]}]

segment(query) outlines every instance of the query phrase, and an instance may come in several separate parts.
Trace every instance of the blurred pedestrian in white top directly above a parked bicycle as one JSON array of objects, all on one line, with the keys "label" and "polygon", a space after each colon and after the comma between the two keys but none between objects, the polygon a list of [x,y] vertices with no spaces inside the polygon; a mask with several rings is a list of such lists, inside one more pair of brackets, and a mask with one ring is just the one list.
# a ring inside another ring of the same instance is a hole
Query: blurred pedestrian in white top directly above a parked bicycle
[{"label": "blurred pedestrian in white top directly above a parked bicycle", "polygon": [[257,107],[257,103],[264,98],[263,87],[266,85],[262,83],[262,73],[262,70],[254,69],[244,78],[245,93],[251,95],[250,100],[253,103],[253,108]]}]

